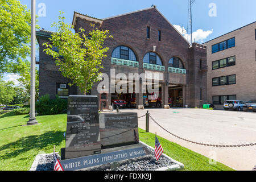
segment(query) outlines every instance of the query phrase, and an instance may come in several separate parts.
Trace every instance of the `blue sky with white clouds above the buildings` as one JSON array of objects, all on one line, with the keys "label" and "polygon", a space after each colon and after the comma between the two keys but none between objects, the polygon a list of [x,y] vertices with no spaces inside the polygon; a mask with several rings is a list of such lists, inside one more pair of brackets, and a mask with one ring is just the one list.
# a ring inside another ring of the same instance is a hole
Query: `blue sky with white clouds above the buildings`
[{"label": "blue sky with white clouds above the buildings", "polygon": [[[31,0],[20,0],[30,9]],[[174,27],[190,39],[184,29],[188,24],[188,0],[37,0],[38,24],[45,30],[56,31],[51,25],[64,12],[65,22],[72,23],[77,11],[95,18],[108,18],[156,5],[156,8]],[[193,40],[204,43],[256,20],[255,0],[195,0],[192,5]],[[5,75],[5,80],[15,80],[18,75]],[[18,84],[16,82],[16,84]]]}]

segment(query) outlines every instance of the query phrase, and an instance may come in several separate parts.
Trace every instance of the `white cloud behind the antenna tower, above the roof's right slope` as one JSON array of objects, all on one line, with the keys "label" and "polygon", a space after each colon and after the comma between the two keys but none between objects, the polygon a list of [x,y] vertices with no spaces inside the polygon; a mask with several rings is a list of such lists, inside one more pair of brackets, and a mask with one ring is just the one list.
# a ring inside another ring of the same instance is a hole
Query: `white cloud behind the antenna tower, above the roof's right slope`
[{"label": "white cloud behind the antenna tower, above the roof's right slope", "polygon": [[[174,27],[177,29],[177,31],[180,32],[181,35],[184,36],[185,39],[188,40],[188,42],[190,42],[191,39],[191,35],[187,34],[187,31],[185,30],[184,27],[181,27],[177,24],[174,24]],[[207,37],[212,34],[213,29],[212,30],[208,30],[208,31],[204,31],[202,29],[198,29],[197,31],[193,32],[193,42],[195,40],[195,42],[201,42],[203,43],[205,39],[207,39]]]}]

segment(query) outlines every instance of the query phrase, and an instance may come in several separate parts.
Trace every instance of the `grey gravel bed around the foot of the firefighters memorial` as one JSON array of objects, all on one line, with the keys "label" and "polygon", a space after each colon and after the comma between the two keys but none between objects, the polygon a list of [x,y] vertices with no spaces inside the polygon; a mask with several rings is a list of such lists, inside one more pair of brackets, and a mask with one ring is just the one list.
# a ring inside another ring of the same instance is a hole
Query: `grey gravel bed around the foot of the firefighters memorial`
[{"label": "grey gravel bed around the foot of the firefighters memorial", "polygon": [[[148,160],[140,160],[138,162],[125,163],[122,165],[116,166],[115,170],[117,171],[154,171],[155,169],[167,167],[174,165],[176,163],[172,162],[170,159],[165,156],[160,156],[159,160],[156,161],[154,158],[154,150],[148,148],[150,150],[152,157]],[[60,156],[57,154],[58,158]],[[53,154],[43,155],[39,159],[38,166],[36,167],[36,171],[53,171]],[[106,171],[115,171],[114,169],[109,168]]]}]

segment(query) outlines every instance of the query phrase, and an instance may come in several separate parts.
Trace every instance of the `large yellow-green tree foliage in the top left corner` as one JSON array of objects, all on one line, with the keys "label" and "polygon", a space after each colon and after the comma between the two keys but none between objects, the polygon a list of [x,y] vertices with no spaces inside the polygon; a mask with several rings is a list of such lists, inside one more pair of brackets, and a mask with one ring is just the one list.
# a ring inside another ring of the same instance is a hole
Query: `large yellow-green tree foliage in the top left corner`
[{"label": "large yellow-green tree foliage in the top left corner", "polygon": [[0,75],[19,73],[30,54],[30,11],[16,0],[0,0]]}]

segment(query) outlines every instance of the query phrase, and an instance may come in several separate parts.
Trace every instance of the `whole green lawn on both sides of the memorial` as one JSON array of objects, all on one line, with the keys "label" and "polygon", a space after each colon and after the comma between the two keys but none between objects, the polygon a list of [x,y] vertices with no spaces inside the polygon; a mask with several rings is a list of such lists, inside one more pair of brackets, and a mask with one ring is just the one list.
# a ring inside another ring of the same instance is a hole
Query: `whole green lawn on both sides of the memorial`
[{"label": "whole green lawn on both sides of the memorial", "polygon": [[[67,114],[46,115],[36,117],[41,125],[26,125],[28,115],[0,115],[0,171],[29,170],[35,156],[53,152],[65,147],[64,131],[66,130]],[[139,130],[139,139],[154,147],[155,135]],[[224,164],[210,165],[209,159],[158,137],[164,153],[183,163],[184,170],[232,170]]]}]

